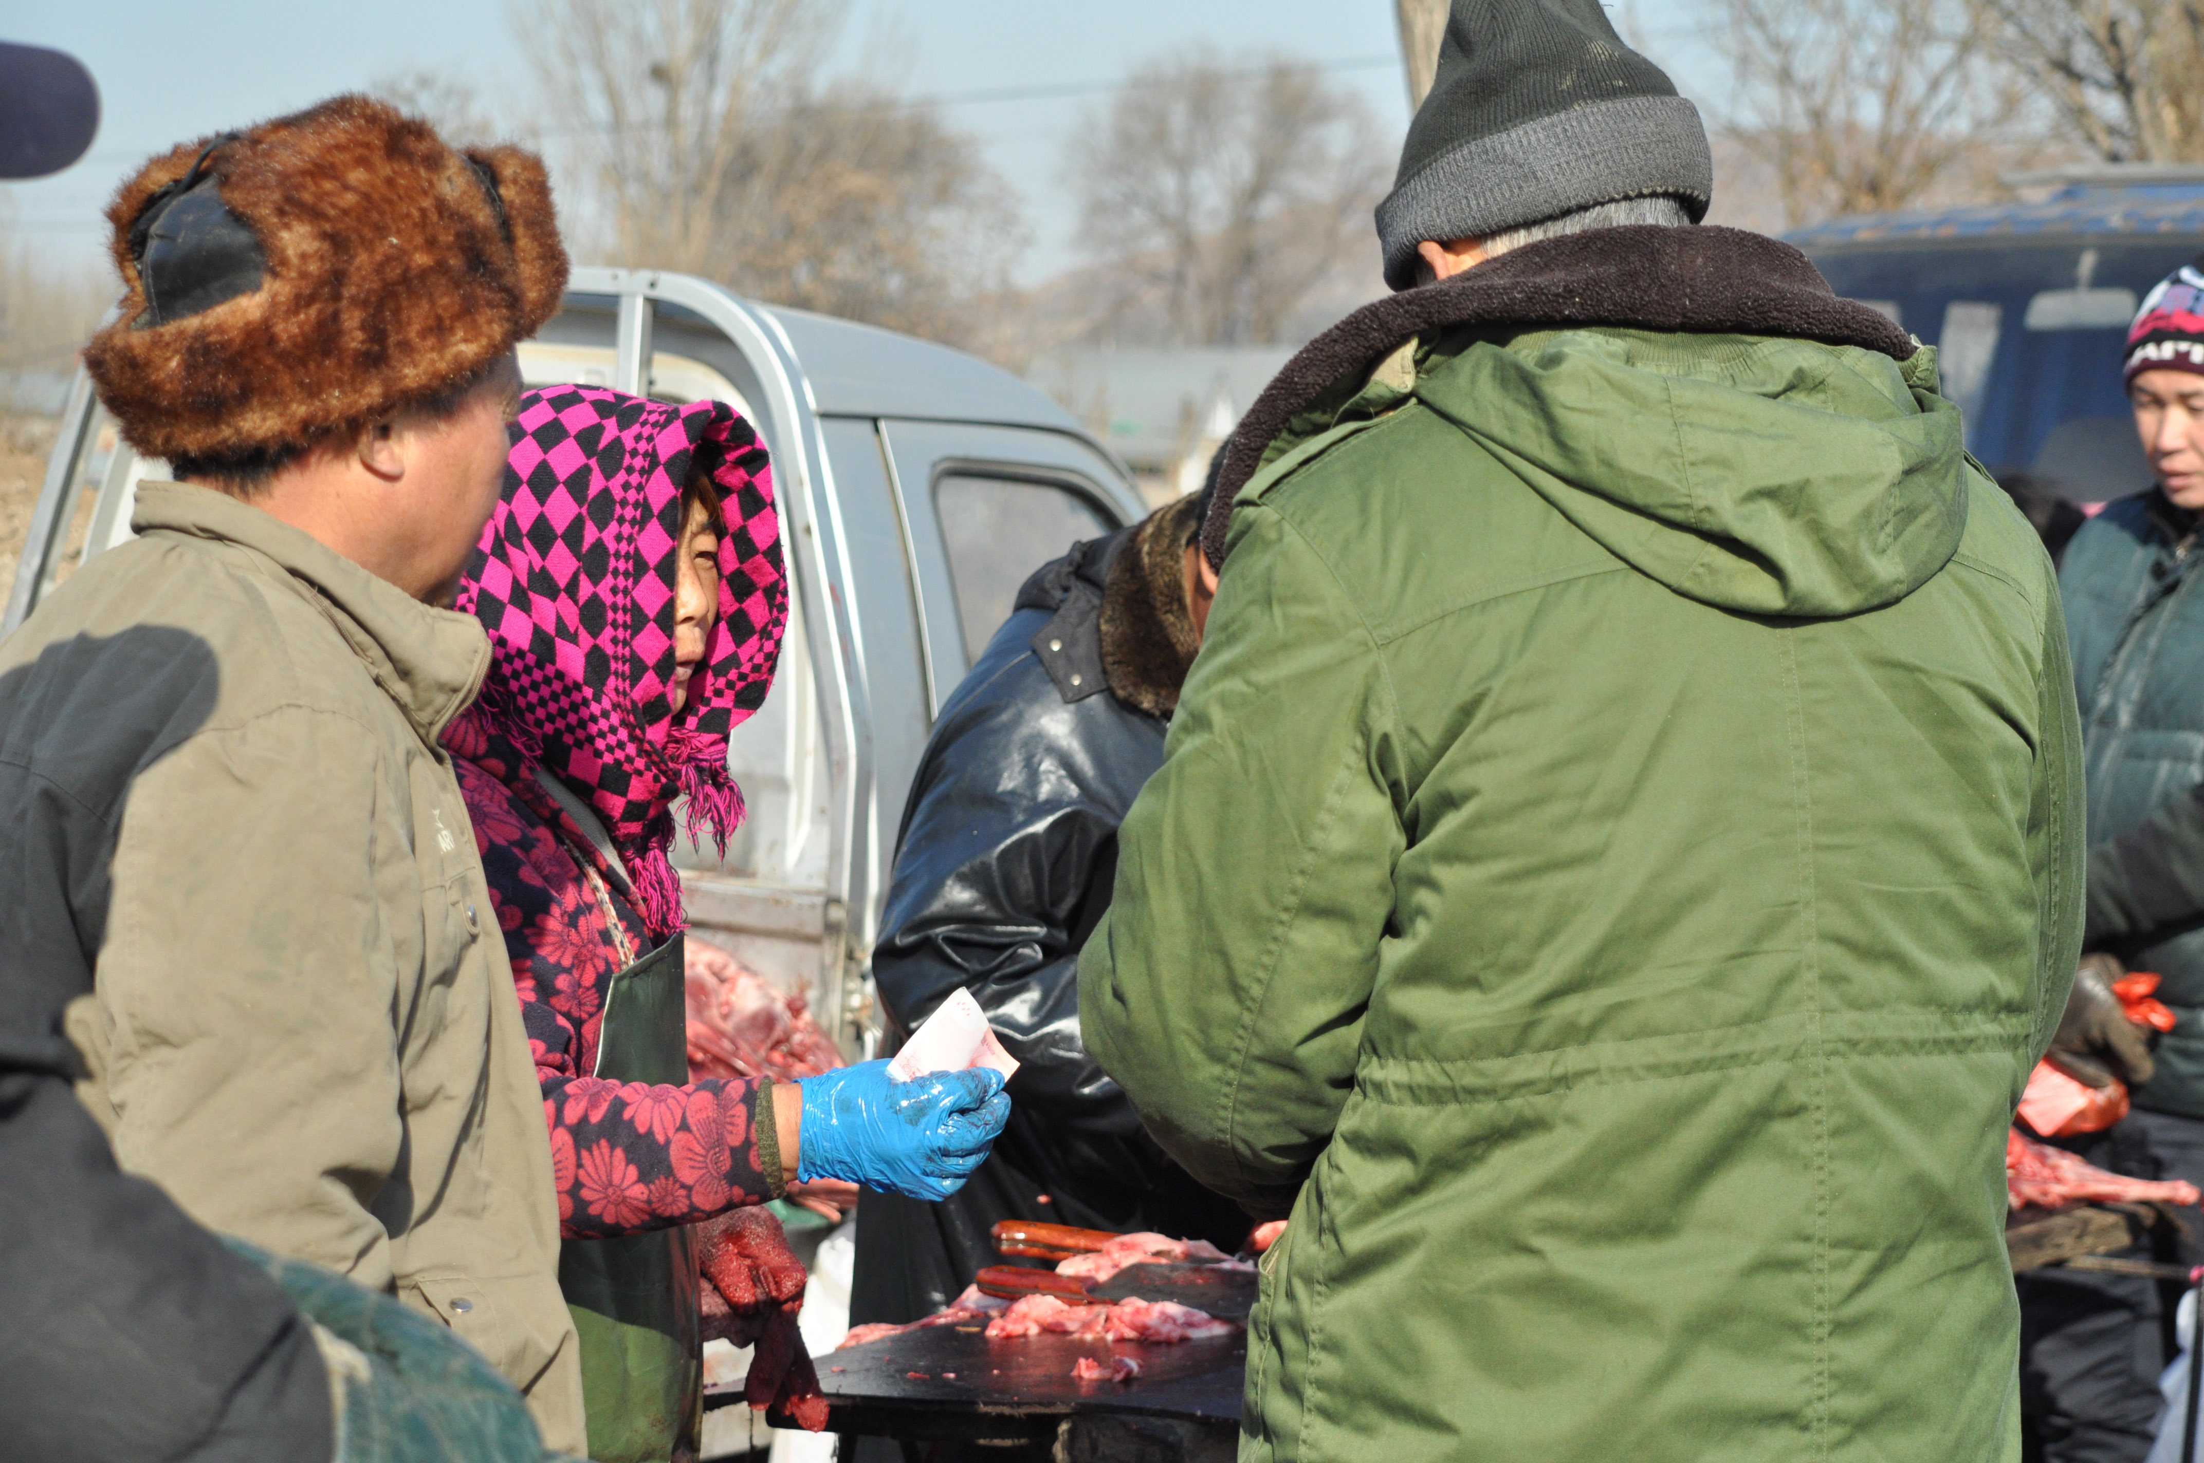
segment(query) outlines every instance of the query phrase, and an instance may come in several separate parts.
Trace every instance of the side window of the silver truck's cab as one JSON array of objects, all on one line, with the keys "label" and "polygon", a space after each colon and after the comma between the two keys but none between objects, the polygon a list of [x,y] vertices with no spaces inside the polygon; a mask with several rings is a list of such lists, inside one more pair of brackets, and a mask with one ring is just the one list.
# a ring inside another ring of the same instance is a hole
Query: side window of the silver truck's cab
[{"label": "side window of the silver truck's cab", "polygon": [[965,665],[1003,628],[1018,586],[1082,538],[1102,538],[1109,524],[1089,502],[1056,483],[950,474],[934,483],[934,513],[957,590]]}]

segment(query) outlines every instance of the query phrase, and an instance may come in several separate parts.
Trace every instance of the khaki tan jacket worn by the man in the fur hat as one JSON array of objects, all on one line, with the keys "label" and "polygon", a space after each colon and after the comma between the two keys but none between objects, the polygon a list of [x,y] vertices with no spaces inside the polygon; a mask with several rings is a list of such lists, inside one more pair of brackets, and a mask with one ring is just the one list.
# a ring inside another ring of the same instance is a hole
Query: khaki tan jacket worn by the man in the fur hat
[{"label": "khaki tan jacket worn by the man in the fur hat", "polygon": [[582,1452],[542,1095],[450,758],[480,626],[223,494],[0,643],[7,947],[126,1170],[452,1326]]}]

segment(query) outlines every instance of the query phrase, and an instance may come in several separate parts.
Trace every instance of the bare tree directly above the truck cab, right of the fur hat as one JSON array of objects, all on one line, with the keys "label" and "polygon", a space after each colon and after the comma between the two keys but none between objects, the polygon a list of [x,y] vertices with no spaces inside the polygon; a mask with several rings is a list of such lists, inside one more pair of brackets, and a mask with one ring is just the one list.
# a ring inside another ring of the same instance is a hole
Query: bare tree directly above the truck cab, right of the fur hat
[{"label": "bare tree directly above the truck cab, right of the fur hat", "polygon": [[937,106],[822,77],[840,4],[531,2],[547,134],[575,141],[604,256],[1014,353],[1016,194]]}]

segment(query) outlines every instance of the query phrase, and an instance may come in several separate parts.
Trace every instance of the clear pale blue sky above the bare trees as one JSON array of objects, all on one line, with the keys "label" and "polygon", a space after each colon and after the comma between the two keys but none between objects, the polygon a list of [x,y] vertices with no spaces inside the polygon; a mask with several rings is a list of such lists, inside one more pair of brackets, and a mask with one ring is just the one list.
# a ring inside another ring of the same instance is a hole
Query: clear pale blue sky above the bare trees
[{"label": "clear pale blue sky above the bare trees", "polygon": [[[148,154],[185,137],[273,117],[406,71],[472,82],[503,117],[540,106],[514,48],[525,0],[4,0],[0,40],[57,46],[99,79],[104,121],[93,152],[37,183],[0,185],[0,209],[53,260],[97,260],[99,209]],[[1717,68],[1677,22],[1697,0],[1613,7],[1686,95],[1706,97]],[[950,99],[950,119],[987,148],[1023,194],[1034,251],[1027,278],[1073,260],[1076,214],[1060,183],[1065,139],[1093,95],[972,99],[974,93],[1106,86],[1155,55],[1214,46],[1256,62],[1285,53],[1340,66],[1389,137],[1406,128],[1391,0],[851,0],[844,62],[917,95]],[[1358,64],[1362,62],[1362,64]]]}]

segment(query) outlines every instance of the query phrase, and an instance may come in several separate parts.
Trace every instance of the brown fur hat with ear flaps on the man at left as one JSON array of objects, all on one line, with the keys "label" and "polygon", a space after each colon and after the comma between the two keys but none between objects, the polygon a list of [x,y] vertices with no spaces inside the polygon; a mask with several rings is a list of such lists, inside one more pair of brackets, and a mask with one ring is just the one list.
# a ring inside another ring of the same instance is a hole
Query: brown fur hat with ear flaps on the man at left
[{"label": "brown fur hat with ear flaps on the man at left", "polygon": [[[260,289],[137,324],[148,302],[132,225],[214,141],[154,159],[108,205],[126,293],[84,366],[145,456],[227,458],[355,432],[463,386],[558,311],[566,249],[542,159],[461,154],[381,101],[333,97],[205,161],[267,256]],[[476,167],[496,176],[498,203]]]}]

